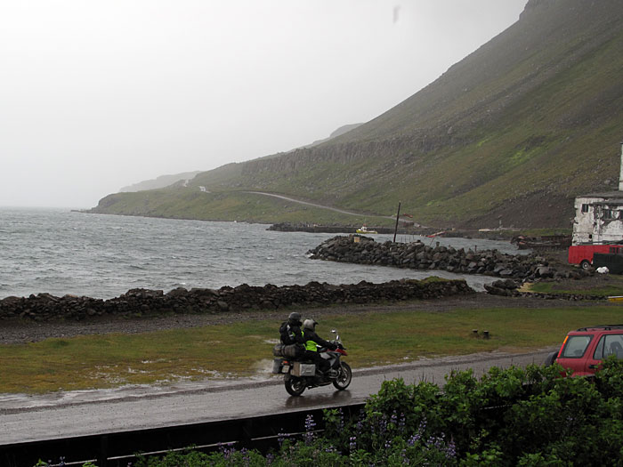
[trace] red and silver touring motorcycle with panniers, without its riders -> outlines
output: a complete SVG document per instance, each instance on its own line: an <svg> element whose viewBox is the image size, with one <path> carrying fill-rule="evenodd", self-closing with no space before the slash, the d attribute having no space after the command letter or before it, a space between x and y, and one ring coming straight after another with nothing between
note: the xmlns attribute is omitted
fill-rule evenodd
<svg viewBox="0 0 623 467"><path fill-rule="evenodd" d="M344 391L352 381L352 370L346 362L340 358L348 355L346 348L340 340L339 334L333 329L336 338L330 342L335 343L336 350L321 348L320 358L329 361L329 370L326 374L321 373L316 365L304 358L275 358L272 365L272 373L284 374L286 391L291 396L300 396L307 388L318 388L333 383L337 391Z"/></svg>

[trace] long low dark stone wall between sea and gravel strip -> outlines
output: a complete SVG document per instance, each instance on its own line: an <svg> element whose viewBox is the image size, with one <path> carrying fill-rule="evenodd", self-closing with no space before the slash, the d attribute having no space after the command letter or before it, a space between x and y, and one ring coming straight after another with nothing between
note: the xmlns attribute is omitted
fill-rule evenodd
<svg viewBox="0 0 623 467"><path fill-rule="evenodd" d="M463 280L402 279L372 284L333 286L310 282L306 286L247 286L176 288L162 290L132 289L109 300L76 295L56 297L32 294L0 300L0 319L22 318L35 321L81 320L105 316L144 317L171 313L223 313L230 310L275 310L287 306L326 306L340 303L395 302L473 294Z"/></svg>

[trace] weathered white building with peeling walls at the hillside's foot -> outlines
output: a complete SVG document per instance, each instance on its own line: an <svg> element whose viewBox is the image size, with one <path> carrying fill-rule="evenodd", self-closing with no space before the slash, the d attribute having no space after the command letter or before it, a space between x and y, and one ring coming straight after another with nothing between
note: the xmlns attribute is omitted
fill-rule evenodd
<svg viewBox="0 0 623 467"><path fill-rule="evenodd" d="M572 245L623 241L623 143L619 190L576 197Z"/></svg>

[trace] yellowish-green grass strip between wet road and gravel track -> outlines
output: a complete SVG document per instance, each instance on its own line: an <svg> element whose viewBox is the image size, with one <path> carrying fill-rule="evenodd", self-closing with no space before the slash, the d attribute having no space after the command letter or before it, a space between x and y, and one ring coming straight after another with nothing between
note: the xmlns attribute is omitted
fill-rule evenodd
<svg viewBox="0 0 623 467"><path fill-rule="evenodd" d="M543 310L356 313L322 318L320 335L340 330L353 367L560 344L572 328L619 322L617 306ZM0 392L43 393L249 376L268 371L279 322L104 334L0 346ZM490 331L489 340L472 330Z"/></svg>

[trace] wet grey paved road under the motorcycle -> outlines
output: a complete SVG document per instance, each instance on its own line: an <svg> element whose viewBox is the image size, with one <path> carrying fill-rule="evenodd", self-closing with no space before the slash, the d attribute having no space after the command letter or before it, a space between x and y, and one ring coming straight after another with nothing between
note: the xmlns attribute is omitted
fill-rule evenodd
<svg viewBox="0 0 623 467"><path fill-rule="evenodd" d="M45 396L0 395L0 445L41 439L205 423L241 416L269 415L305 407L332 407L364 402L382 382L444 382L453 369L473 368L480 375L490 366L542 364L551 350L526 354L488 353L419 360L403 366L353 370L346 391L325 386L300 398L287 395L280 376L236 382L192 382L166 388L76 391Z"/></svg>

